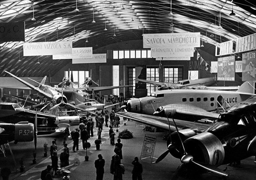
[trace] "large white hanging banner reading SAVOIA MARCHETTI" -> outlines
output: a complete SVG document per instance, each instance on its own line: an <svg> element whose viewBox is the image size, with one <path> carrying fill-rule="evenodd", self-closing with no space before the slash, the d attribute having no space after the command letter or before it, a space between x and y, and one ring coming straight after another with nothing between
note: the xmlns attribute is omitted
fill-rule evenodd
<svg viewBox="0 0 256 180"><path fill-rule="evenodd" d="M143 34L143 48L157 47L200 47L200 32Z"/></svg>

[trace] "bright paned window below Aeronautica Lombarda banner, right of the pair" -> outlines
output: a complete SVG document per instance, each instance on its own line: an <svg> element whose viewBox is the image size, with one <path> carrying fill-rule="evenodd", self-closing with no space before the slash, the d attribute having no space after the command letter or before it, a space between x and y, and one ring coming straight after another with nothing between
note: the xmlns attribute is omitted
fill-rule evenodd
<svg viewBox="0 0 256 180"><path fill-rule="evenodd" d="M165 67L164 81L170 83L177 83L183 79L183 67Z"/></svg>

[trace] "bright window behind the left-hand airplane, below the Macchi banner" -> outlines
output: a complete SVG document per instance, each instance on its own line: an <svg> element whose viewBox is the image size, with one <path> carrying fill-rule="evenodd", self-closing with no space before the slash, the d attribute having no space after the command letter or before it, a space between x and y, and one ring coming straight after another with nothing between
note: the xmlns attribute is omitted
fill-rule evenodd
<svg viewBox="0 0 256 180"><path fill-rule="evenodd" d="M64 77L71 78L71 73L73 76L73 87L80 87L86 78L89 77L89 71L70 71L70 77L68 77L68 71L64 72ZM70 79L71 80L71 79Z"/></svg>

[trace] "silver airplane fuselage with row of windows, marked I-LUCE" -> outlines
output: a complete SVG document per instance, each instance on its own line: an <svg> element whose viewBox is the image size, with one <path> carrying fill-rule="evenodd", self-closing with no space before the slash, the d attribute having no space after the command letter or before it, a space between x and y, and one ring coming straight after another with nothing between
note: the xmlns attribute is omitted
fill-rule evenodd
<svg viewBox="0 0 256 180"><path fill-rule="evenodd" d="M180 111L207 110L213 111L229 107L248 99L251 95L240 95L238 92L216 90L162 90L154 96L128 100L128 111L152 115L160 106Z"/></svg>

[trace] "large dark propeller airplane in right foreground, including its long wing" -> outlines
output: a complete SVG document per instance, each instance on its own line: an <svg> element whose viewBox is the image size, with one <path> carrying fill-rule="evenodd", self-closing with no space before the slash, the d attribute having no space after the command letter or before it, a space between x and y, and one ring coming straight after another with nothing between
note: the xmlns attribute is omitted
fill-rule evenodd
<svg viewBox="0 0 256 180"><path fill-rule="evenodd" d="M218 121L213 124L174 119L175 110L170 113L172 121L169 118L140 113L116 114L170 131L167 151L155 163L159 163L169 153L180 159L182 165L177 168L174 177L191 177L208 171L227 176L218 166L256 154L256 95L219 115Z"/></svg>

